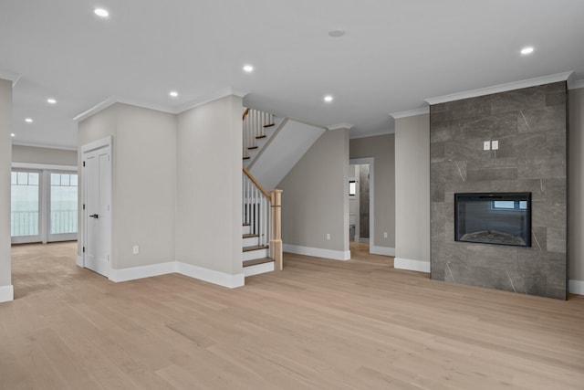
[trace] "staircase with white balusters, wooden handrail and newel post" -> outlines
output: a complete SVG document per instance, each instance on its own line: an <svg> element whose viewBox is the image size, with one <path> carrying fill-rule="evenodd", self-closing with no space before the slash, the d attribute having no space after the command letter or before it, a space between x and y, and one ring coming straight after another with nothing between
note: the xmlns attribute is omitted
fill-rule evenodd
<svg viewBox="0 0 584 390"><path fill-rule="evenodd" d="M263 111L243 114L245 277L282 269L281 190L274 188L327 129Z"/></svg>

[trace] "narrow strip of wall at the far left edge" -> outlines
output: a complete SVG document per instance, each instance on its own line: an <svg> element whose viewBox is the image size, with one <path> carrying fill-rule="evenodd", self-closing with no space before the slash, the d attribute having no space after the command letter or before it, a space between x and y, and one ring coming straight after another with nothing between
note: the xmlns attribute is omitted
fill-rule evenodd
<svg viewBox="0 0 584 390"><path fill-rule="evenodd" d="M12 81L0 79L0 290L12 285L10 259L10 171L12 169ZM11 288L10 288L11 289ZM0 293L1 295L1 293Z"/></svg>

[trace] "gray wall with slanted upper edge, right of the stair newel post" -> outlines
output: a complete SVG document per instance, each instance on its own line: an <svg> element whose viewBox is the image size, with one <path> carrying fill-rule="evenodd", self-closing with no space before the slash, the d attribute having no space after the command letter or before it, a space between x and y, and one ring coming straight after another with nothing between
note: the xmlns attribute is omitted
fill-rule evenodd
<svg viewBox="0 0 584 390"><path fill-rule="evenodd" d="M276 188L285 245L349 250L348 129L322 134Z"/></svg>

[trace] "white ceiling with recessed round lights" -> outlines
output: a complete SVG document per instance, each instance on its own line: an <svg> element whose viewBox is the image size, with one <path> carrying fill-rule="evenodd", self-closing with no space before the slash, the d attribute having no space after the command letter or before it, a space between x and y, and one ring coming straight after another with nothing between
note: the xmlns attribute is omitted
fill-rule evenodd
<svg viewBox="0 0 584 390"><path fill-rule="evenodd" d="M222 90L355 137L391 132L389 113L427 98L584 79L582 19L580 0L0 0L0 78L19 78L20 144L75 147L73 118L112 96L179 111Z"/></svg>

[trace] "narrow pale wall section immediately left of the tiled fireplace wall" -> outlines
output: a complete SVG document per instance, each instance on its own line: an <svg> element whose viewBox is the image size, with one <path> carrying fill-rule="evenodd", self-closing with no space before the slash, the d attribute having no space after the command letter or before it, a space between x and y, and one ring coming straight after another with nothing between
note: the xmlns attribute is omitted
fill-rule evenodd
<svg viewBox="0 0 584 390"><path fill-rule="evenodd" d="M430 115L395 121L395 268L430 272Z"/></svg>

